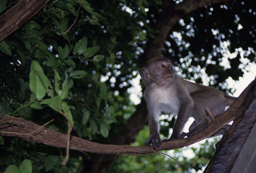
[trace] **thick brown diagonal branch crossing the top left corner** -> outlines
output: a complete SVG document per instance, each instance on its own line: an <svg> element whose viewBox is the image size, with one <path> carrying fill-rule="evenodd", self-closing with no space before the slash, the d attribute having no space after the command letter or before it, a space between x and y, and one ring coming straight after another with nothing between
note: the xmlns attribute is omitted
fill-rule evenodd
<svg viewBox="0 0 256 173"><path fill-rule="evenodd" d="M0 16L0 41L33 17L49 0L20 0Z"/></svg>

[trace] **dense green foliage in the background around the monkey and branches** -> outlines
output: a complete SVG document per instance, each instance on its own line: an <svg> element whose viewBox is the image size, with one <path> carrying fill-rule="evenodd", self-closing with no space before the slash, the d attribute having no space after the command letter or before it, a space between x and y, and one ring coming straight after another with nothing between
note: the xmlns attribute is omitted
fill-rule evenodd
<svg viewBox="0 0 256 173"><path fill-rule="evenodd" d="M0 14L15 3L3 0ZM228 76L237 80L255 57L252 3L235 0L185 15L172 28L163 55L172 59L185 78L202 82L207 74L210 85L227 89ZM81 0L80 8L80 0L49 0L0 42L0 113L40 124L54 118L47 127L67 132L61 111L74 123L72 135L111 143L135 111L128 89L143 65L140 57L146 43L157 34L153 28L162 5L161 0ZM226 59L228 67L223 64ZM247 61L242 64L243 59ZM174 118L162 122L161 133L166 137ZM143 146L147 136L142 130L136 143ZM0 144L0 172L22 171L24 164L29 165L27 169L32 164L32 172L81 172L86 161L83 153L71 151L63 167L60 152L65 155L65 150L2 136ZM203 146L209 148L192 148L197 153L193 159L178 160L183 170L198 171L206 165L213 154L213 142ZM162 156L121 156L111 172L180 169L175 161Z"/></svg>

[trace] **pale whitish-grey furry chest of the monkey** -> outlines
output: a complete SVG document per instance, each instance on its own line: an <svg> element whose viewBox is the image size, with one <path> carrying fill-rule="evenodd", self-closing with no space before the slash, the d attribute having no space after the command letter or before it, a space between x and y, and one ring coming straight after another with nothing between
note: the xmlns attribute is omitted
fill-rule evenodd
<svg viewBox="0 0 256 173"><path fill-rule="evenodd" d="M159 89L155 90L151 97L155 98L154 101L156 110L164 113L178 113L180 102L175 92Z"/></svg>

